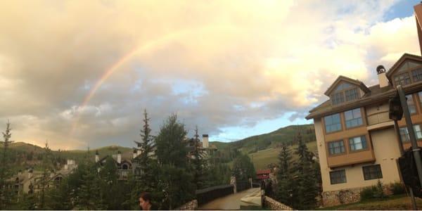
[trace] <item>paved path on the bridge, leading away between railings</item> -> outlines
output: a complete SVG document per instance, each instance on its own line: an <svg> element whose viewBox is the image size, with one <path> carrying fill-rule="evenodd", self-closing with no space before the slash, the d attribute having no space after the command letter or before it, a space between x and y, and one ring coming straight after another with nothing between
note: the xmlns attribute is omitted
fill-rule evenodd
<svg viewBox="0 0 422 211"><path fill-rule="evenodd" d="M222 198L217 198L216 200L212 200L205 205L199 206L198 210L240 210L241 198L257 190L260 190L260 188L250 188L246 191L230 194L229 196Z"/></svg>

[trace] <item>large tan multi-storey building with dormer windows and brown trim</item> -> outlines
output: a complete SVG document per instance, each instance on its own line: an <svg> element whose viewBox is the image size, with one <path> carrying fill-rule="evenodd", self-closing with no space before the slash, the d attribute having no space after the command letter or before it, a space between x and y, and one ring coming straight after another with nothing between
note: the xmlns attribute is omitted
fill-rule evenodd
<svg viewBox="0 0 422 211"><path fill-rule="evenodd" d="M415 12L422 46L418 21L422 4L415 6ZM359 191L378 180L385 185L401 181L399 145L406 149L411 143L404 118L398 122L398 135L388 115L388 100L399 84L407 94L416 139L422 146L422 57L404 53L388 71L378 68L376 73L379 84L371 87L338 77L324 93L328 101L306 117L314 120L324 206L357 201Z"/></svg>

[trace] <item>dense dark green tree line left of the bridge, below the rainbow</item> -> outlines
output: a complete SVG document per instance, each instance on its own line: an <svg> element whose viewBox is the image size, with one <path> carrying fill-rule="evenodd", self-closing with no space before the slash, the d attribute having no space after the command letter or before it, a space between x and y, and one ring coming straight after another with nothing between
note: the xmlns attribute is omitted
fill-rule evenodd
<svg viewBox="0 0 422 211"><path fill-rule="evenodd" d="M195 198L201 188L229 184L232 175L254 177L252 162L238 151L230 153L234 168L219 157L222 153L208 153L200 147L198 128L191 139L186 139L187 130L177 120L177 115L163 122L157 136L151 134L150 118L143 113L143 127L138 143L139 156L132 160L134 172L127 180L120 180L113 158L99 165L89 152L71 174L49 188L49 175L56 170L54 156L45 146L42 155L41 177L35 191L30 186L28 193L16 194L10 171L8 153L11 142L10 123L4 132L0 167L0 210L139 210L139 196L149 192L152 203L160 210L174 210ZM247 155L244 155L247 156ZM217 161L217 162L216 162ZM251 167L252 166L252 167Z"/></svg>

